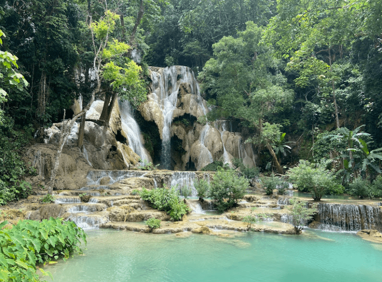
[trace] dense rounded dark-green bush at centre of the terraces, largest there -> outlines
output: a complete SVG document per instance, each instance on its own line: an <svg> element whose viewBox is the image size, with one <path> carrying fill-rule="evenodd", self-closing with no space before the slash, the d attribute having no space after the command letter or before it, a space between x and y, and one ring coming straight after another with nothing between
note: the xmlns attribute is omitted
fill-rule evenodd
<svg viewBox="0 0 382 282"><path fill-rule="evenodd" d="M238 177L234 170L218 170L210 184L209 196L215 202L219 212L229 210L237 205L248 188L248 180Z"/></svg>

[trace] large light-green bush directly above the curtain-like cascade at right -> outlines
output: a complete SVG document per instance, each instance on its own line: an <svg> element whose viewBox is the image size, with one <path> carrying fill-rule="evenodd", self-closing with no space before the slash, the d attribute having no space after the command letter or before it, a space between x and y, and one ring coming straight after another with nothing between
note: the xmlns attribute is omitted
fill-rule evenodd
<svg viewBox="0 0 382 282"><path fill-rule="evenodd" d="M326 163L310 164L300 160L298 166L289 169L289 180L297 185L301 192L310 192L314 201L328 191L338 191L338 183L332 171L325 169Z"/></svg>

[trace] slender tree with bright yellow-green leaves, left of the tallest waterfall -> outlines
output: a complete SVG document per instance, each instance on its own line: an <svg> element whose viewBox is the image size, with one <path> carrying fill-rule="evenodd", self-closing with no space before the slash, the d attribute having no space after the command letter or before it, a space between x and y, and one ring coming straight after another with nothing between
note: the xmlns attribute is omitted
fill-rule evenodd
<svg viewBox="0 0 382 282"><path fill-rule="evenodd" d="M129 100L133 106L139 105L146 99L146 89L140 79L142 68L126 57L130 46L112 38L119 15L106 10L98 21L90 20L90 30L93 42L93 71L96 85L92 91L92 98L101 91L102 79L108 81L112 88L107 89L99 122L108 127L112 109L118 94L122 99ZM81 121L79 131L79 147L82 147L85 129L85 119Z"/></svg>

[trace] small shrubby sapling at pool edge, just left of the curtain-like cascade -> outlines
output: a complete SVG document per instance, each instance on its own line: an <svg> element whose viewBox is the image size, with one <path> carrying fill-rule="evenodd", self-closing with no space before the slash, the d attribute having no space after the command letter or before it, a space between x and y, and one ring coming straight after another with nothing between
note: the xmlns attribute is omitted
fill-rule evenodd
<svg viewBox="0 0 382 282"><path fill-rule="evenodd" d="M310 203L310 208L306 207L306 202L299 201L296 198L289 199L291 207L288 207L292 215L292 225L296 234L300 234L304 229L308 220L312 219L312 215L317 213L317 203Z"/></svg>

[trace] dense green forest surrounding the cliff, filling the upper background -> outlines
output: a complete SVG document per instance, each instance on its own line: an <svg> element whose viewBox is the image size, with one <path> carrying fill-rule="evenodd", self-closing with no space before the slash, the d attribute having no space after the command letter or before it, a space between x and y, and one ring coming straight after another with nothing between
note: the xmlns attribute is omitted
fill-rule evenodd
<svg viewBox="0 0 382 282"><path fill-rule="evenodd" d="M27 193L22 148L80 94L138 106L148 66L172 65L197 75L206 120L246 129L262 170L307 160L291 177L381 197L381 31L378 0L0 0L0 198Z"/></svg>

